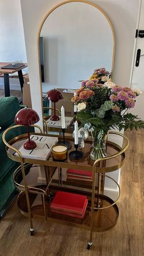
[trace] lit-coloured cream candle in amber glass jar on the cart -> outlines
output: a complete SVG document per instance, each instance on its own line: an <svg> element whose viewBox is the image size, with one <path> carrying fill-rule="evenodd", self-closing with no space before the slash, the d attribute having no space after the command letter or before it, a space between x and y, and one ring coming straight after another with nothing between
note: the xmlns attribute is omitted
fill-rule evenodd
<svg viewBox="0 0 144 256"><path fill-rule="evenodd" d="M59 144L52 147L52 156L56 161L64 161L67 159L68 148L66 145Z"/></svg>

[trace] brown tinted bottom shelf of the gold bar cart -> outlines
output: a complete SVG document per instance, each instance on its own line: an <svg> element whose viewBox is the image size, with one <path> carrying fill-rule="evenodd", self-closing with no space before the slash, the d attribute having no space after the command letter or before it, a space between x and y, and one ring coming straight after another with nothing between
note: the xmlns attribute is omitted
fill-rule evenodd
<svg viewBox="0 0 144 256"><path fill-rule="evenodd" d="M50 188L52 194L55 192L52 188ZM81 193L82 194L82 193ZM86 193L84 193L86 195ZM31 203L31 214L32 218L41 217L45 219L45 213L43 210L43 205L40 204L40 198L37 199L37 195L34 193L29 193L29 201ZM87 197L90 197L87 194ZM95 194L95 204L97 200L101 201L101 205L103 207L107 207L112 205L113 200L107 196L101 194ZM88 207L85 213L85 218L81 221L79 219L66 216L63 214L52 213L49 209L51 200L48 198L45 199L46 209L48 209L47 213L47 220L49 222L57 222L59 221L60 224L67 224L73 225L74 227L79 227L82 229L90 230L90 213L91 213L91 200L88 200ZM27 209L27 201L26 201L26 194L24 191L21 191L18 199L17 199L18 208L20 209L21 213L24 216L29 217L28 209ZM103 232L106 230L112 229L117 224L118 221L118 207L117 204L113 205L113 207L107 208L106 210L95 210L93 214L93 231L95 232Z"/></svg>

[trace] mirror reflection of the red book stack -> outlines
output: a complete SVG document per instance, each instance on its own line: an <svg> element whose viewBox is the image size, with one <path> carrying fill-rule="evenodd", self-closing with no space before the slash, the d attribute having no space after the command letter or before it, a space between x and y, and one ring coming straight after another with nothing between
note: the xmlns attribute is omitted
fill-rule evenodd
<svg viewBox="0 0 144 256"><path fill-rule="evenodd" d="M82 180L92 182L93 172L88 170L67 169L67 181Z"/></svg>

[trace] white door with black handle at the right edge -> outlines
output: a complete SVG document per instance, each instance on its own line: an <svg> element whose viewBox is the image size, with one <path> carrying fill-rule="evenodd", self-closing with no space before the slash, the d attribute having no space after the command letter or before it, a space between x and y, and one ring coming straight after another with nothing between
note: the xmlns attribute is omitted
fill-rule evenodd
<svg viewBox="0 0 144 256"><path fill-rule="evenodd" d="M135 108L131 109L132 114L139 115L144 120L144 0L139 1L139 12L137 17L137 38L135 38L134 56L132 60L132 71L130 85L131 88L139 88L143 91L136 98ZM139 36L140 31L143 31L143 38ZM139 66L136 67L137 50L140 49Z"/></svg>

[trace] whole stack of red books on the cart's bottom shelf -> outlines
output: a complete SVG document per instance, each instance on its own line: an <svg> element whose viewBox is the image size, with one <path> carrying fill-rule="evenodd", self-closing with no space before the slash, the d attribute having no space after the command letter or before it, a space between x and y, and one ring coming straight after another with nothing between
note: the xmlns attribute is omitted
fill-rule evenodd
<svg viewBox="0 0 144 256"><path fill-rule="evenodd" d="M83 219L87 209L87 197L70 192L57 191L51 203L51 211Z"/></svg>

